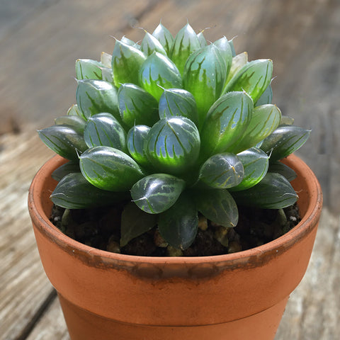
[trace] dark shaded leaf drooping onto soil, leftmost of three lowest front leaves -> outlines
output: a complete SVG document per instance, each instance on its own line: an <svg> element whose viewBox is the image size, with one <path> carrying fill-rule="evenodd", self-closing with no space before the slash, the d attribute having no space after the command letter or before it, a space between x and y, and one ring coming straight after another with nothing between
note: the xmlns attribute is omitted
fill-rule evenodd
<svg viewBox="0 0 340 340"><path fill-rule="evenodd" d="M122 212L120 222L120 246L126 246L132 239L148 232L157 225L157 216L140 210L135 203L128 203Z"/></svg>

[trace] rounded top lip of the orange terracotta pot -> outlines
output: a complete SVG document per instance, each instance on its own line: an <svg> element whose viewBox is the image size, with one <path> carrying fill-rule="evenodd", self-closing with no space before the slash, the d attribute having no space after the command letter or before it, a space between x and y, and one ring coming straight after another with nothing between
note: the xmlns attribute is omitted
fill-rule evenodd
<svg viewBox="0 0 340 340"><path fill-rule="evenodd" d="M251 261L254 256L265 256L266 254L277 253L278 249L289 249L300 239L305 237L305 234L310 232L317 225L319 215L322 210L322 190L312 170L303 162L299 157L290 155L284 160L284 163L290 164L295 168L297 175L303 174L305 177L305 184L307 191L310 194L310 202L307 205L305 215L302 217L301 222L284 234L278 239L274 239L271 242L257 246L256 248L239 251L233 254L224 254L216 256L195 256L195 257L156 257L156 256L134 256L125 254L116 254L109 251L103 251L100 249L87 246L74 239L67 237L67 235L60 232L55 225L50 222L49 218L45 215L42 208L41 200L44 199L40 193L45 183L46 176L50 176L52 171L65 162L60 156L52 157L47 161L35 175L28 193L28 208L32 220L35 225L40 229L40 232L45 234L50 239L53 239L55 243L61 247L71 247L74 252L81 254L82 256L93 258L94 256L100 256L106 263L119 262L119 263L153 263L157 264L172 264L172 265L197 265L199 263L227 263L246 265ZM298 164L298 165L297 165Z"/></svg>

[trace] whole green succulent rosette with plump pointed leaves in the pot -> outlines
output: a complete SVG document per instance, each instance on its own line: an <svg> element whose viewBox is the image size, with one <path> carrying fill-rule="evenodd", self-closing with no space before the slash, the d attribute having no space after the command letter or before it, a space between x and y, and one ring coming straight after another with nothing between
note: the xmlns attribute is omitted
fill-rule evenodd
<svg viewBox="0 0 340 340"><path fill-rule="evenodd" d="M293 205L295 173L278 162L309 130L272 104L271 60L235 55L232 40L209 43L186 24L162 24L140 45L116 40L113 55L77 60L77 104L39 131L69 159L51 195L68 209L126 202L120 244L158 227L186 249L199 216L237 225L237 205ZM128 222L127 222L128 221Z"/></svg>

